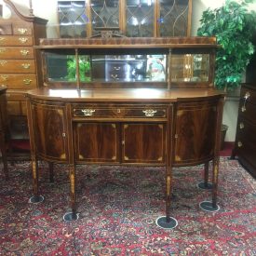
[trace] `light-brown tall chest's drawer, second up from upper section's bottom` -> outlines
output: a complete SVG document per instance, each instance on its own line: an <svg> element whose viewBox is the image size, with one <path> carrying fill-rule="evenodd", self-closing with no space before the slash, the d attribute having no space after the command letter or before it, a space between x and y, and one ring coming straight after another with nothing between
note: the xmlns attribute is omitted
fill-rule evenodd
<svg viewBox="0 0 256 256"><path fill-rule="evenodd" d="M0 60L1 73L35 73L34 60Z"/></svg>

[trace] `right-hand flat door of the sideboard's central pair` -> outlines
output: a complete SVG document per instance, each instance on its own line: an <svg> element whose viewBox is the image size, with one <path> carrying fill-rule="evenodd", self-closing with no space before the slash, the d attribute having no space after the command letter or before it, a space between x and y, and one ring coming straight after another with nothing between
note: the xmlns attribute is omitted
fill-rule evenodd
<svg viewBox="0 0 256 256"><path fill-rule="evenodd" d="M166 126L159 123L124 124L122 145L122 161L125 163L164 164Z"/></svg>

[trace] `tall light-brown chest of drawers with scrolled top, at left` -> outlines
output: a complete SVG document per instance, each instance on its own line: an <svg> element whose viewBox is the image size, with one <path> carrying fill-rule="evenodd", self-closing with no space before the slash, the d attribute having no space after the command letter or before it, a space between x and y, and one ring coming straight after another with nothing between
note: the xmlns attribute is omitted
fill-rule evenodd
<svg viewBox="0 0 256 256"><path fill-rule="evenodd" d="M24 16L10 2L8 19L0 18L0 86L7 88L10 138L28 139L24 93L41 84L39 55L34 46L46 37L47 20Z"/></svg>

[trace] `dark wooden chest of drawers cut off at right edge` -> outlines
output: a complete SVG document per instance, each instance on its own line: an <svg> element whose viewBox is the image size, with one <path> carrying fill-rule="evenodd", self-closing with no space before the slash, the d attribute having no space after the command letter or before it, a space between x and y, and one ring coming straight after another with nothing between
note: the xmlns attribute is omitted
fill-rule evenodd
<svg viewBox="0 0 256 256"><path fill-rule="evenodd" d="M233 155L256 177L256 87L243 84L238 110L236 145Z"/></svg>

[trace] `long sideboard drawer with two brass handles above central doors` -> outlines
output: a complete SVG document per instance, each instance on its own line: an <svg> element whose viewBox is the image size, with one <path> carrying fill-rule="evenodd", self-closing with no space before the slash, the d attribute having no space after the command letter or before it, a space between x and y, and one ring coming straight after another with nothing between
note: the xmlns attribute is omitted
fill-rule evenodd
<svg viewBox="0 0 256 256"><path fill-rule="evenodd" d="M97 118L167 118L167 106L98 106L98 105L75 105L75 117Z"/></svg>

